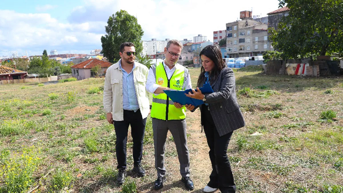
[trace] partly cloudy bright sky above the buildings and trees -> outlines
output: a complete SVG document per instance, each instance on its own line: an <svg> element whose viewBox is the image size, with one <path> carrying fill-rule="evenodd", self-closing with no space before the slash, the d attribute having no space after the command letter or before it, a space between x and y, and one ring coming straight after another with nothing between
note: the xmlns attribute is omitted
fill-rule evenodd
<svg viewBox="0 0 343 193"><path fill-rule="evenodd" d="M240 11L263 17L278 7L279 0L0 0L0 57L44 49L89 54L101 49L108 18L121 9L137 16L144 41L202 34L213 42L213 31L225 30Z"/></svg>

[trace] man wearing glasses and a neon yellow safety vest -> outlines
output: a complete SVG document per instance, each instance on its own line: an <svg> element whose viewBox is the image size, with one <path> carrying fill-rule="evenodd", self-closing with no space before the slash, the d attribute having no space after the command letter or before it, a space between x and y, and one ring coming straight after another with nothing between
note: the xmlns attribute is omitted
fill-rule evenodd
<svg viewBox="0 0 343 193"><path fill-rule="evenodd" d="M163 90L186 90L192 88L188 69L177 64L181 55L182 44L170 40L164 48L166 58L163 62L152 65L146 81L146 90L153 94L151 117L154 132L155 167L157 180L155 190L163 187L166 177L164 149L168 130L173 135L180 162L181 181L188 190L194 185L189 173L189 152L186 136L186 107L174 103Z"/></svg>

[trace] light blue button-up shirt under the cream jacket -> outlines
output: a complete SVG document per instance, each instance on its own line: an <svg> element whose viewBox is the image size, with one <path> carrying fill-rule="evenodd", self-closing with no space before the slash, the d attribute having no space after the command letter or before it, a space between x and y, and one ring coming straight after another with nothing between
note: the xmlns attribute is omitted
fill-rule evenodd
<svg viewBox="0 0 343 193"><path fill-rule="evenodd" d="M121 67L121 60L119 66L123 72L123 109L136 112L139 109L136 90L134 89L133 70L136 67L133 63L133 68L130 73L127 73Z"/></svg>

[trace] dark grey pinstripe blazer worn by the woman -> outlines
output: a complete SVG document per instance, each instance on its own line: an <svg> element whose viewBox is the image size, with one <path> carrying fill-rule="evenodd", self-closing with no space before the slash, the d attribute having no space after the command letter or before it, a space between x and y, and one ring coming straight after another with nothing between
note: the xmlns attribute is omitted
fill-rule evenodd
<svg viewBox="0 0 343 193"><path fill-rule="evenodd" d="M217 79L211 83L211 87L214 92L205 94L206 103L209 104L219 136L244 127L245 121L237 102L234 71L231 68L222 69ZM200 111L201 109L200 106ZM202 117L201 125L204 121L206 120Z"/></svg>

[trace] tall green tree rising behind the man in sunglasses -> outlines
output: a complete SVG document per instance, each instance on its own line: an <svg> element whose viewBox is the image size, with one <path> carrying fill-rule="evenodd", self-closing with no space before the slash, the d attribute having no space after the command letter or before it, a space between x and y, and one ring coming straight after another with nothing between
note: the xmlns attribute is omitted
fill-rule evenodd
<svg viewBox="0 0 343 193"><path fill-rule="evenodd" d="M108 18L105 26L106 34L101 37L102 51L109 62L115 63L120 59L119 47L123 42L132 42L137 53L143 50L142 36L144 34L137 19L125 10L120 10Z"/></svg>

